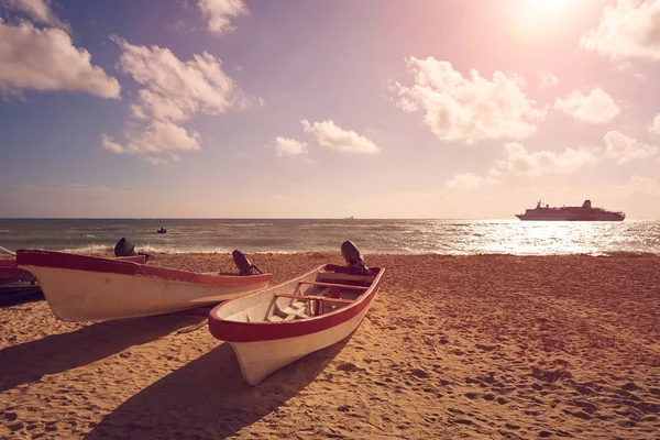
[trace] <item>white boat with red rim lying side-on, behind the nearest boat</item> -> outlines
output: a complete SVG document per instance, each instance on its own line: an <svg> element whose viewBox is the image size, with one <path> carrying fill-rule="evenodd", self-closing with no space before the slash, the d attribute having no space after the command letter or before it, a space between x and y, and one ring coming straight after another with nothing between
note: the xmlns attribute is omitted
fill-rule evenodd
<svg viewBox="0 0 660 440"><path fill-rule="evenodd" d="M144 262L143 255L134 256L140 257ZM64 321L136 318L208 306L262 289L271 280L271 274L204 274L35 250L16 251L16 264L36 276L51 309Z"/></svg>

